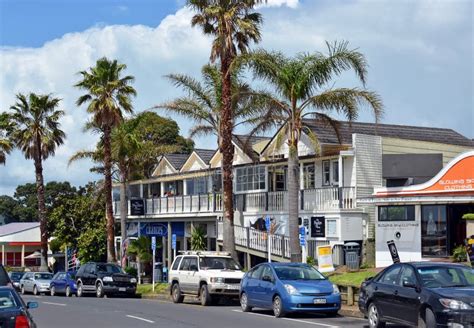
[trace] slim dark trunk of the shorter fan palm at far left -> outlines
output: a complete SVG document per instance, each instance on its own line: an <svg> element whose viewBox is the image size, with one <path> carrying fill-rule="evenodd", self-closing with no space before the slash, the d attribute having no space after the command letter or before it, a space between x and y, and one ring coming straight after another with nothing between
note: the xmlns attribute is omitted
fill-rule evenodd
<svg viewBox="0 0 474 328"><path fill-rule="evenodd" d="M40 143L41 144L41 143ZM41 147L38 147L39 149ZM48 271L48 228L44 200L43 163L41 155L35 158L36 197L38 198L38 219L41 233L41 271Z"/></svg>

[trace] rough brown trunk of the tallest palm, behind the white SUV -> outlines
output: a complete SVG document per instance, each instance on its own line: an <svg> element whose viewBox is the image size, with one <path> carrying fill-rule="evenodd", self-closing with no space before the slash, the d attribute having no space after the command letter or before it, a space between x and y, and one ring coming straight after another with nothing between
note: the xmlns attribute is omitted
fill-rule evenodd
<svg viewBox="0 0 474 328"><path fill-rule="evenodd" d="M234 159L234 146L232 144L232 81L230 74L228 74L231 60L232 59L229 55L221 57L221 75L223 83L219 147L222 154L222 184L224 201L223 245L224 251L230 252L232 257L237 259L234 238L234 194L232 183L232 162Z"/></svg>

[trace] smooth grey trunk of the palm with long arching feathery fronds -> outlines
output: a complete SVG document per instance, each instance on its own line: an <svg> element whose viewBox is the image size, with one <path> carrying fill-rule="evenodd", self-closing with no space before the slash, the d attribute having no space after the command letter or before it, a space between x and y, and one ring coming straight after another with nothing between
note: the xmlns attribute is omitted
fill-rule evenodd
<svg viewBox="0 0 474 328"><path fill-rule="evenodd" d="M301 246L299 243L299 163L298 141L290 143L288 155L288 220L290 230L290 261L301 262Z"/></svg>

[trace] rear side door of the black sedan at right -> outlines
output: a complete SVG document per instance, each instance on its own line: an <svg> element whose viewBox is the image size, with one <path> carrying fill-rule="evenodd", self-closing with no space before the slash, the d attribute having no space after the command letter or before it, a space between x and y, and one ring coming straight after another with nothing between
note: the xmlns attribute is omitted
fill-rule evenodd
<svg viewBox="0 0 474 328"><path fill-rule="evenodd" d="M394 318L397 316L393 303L401 268L399 264L389 267L374 284L373 300L377 305L379 313L384 318Z"/></svg>

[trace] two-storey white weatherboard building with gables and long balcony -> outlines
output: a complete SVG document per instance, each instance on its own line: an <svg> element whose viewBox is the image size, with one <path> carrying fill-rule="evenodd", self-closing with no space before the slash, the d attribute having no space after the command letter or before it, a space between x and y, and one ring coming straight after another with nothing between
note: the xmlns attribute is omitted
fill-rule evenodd
<svg viewBox="0 0 474 328"><path fill-rule="evenodd" d="M316 155L302 135L300 224L308 227L308 255L315 257L316 246L329 244L336 264L342 264L341 246L349 241L364 245L364 258L374 257L376 204L361 199L371 197L375 188L426 182L460 153L474 149L472 140L450 129L340 122L339 142L323 122L307 123L318 135L321 151ZM277 147L275 139L236 135L232 140L235 237L247 265L266 257L266 216L276 229L272 257L289 259L288 147ZM222 241L220 165L216 150L160 158L150 179L129 185L129 236L161 237L164 247L157 260L168 266L172 234L177 235L178 250L188 250L195 226L207 232L208 249L217 249ZM119 186L114 190L119 220Z"/></svg>

